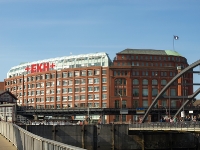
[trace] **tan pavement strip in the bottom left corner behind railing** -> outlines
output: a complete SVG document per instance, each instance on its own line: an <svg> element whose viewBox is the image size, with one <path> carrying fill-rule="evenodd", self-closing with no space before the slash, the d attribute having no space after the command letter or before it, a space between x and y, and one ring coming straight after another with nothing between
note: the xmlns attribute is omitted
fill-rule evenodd
<svg viewBox="0 0 200 150"><path fill-rule="evenodd" d="M0 134L0 150L17 150L17 148Z"/></svg>

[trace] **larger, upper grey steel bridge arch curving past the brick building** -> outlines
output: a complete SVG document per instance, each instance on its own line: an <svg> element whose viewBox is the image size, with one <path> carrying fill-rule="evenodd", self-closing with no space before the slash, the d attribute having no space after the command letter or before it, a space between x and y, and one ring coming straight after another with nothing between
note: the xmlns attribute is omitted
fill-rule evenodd
<svg viewBox="0 0 200 150"><path fill-rule="evenodd" d="M195 68L198 65L200 65L200 60L197 60L196 62L192 63L191 65L189 65L188 67L186 67L185 69L183 69L174 78L172 78L172 80L169 83L167 83L165 85L165 87L160 91L160 93L156 96L156 98L153 100L153 102L151 103L151 105L147 109L146 113L144 114L144 116L142 118L142 121L141 121L142 123L144 123L145 119L149 115L149 112L152 110L153 106L156 104L156 102L158 101L158 99L173 84L173 82L176 81L178 78L180 78L183 74L187 73L188 71L190 71L191 69Z"/></svg>

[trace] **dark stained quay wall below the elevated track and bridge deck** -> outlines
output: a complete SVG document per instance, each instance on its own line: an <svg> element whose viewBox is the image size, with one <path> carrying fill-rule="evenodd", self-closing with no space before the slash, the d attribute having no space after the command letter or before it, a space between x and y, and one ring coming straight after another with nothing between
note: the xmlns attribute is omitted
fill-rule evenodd
<svg viewBox="0 0 200 150"><path fill-rule="evenodd" d="M27 125L28 131L58 142L87 150L196 149L192 133L132 132L128 125ZM132 134L132 135L129 135ZM196 147L195 147L196 145Z"/></svg>

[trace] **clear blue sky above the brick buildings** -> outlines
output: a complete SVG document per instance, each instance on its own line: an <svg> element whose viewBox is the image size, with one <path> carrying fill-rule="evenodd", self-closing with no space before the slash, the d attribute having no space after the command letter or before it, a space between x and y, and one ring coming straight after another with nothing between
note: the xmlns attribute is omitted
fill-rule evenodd
<svg viewBox="0 0 200 150"><path fill-rule="evenodd" d="M0 0L0 81L21 62L70 53L172 50L173 35L191 64L200 58L199 14L199 0Z"/></svg>

